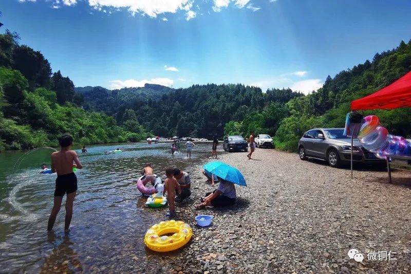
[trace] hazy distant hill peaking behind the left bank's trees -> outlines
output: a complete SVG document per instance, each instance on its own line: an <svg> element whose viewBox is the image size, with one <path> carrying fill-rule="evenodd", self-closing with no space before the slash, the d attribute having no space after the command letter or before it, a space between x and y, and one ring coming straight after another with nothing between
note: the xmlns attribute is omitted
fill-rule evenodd
<svg viewBox="0 0 411 274"><path fill-rule="evenodd" d="M74 90L82 94L84 100L96 111L109 115L117 113L118 109L130 102L147 102L159 100L161 96L174 92L174 88L156 84L145 84L144 87L124 87L110 90L101 86L76 87Z"/></svg>

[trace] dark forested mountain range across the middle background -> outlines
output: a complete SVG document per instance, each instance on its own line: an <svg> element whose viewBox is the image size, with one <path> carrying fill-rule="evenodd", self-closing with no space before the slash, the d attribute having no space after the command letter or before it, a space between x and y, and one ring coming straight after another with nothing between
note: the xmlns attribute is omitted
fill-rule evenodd
<svg viewBox="0 0 411 274"><path fill-rule="evenodd" d="M136 117L140 124L156 135L208 138L214 134L223 135L224 125L232 119L242 120L247 113L262 110L267 105L271 109L267 115L271 115L278 104L303 96L291 89L270 89L262 93L258 87L241 84L193 85L166 90L161 96L150 89L137 96L136 93L130 95L132 90L110 91L96 87L83 95L93 108L115 115L119 125L124 125L129 117ZM116 94L117 99L110 97L112 94ZM266 125L270 132L275 132L276 126L271 118L267 118Z"/></svg>

